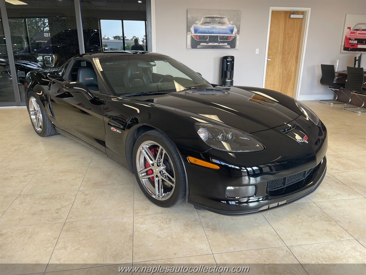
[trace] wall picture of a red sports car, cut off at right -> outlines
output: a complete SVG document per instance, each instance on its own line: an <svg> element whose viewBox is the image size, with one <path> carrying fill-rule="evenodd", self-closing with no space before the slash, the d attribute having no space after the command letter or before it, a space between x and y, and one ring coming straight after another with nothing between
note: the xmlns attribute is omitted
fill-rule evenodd
<svg viewBox="0 0 366 275"><path fill-rule="evenodd" d="M366 52L366 15L346 14L340 52Z"/></svg>

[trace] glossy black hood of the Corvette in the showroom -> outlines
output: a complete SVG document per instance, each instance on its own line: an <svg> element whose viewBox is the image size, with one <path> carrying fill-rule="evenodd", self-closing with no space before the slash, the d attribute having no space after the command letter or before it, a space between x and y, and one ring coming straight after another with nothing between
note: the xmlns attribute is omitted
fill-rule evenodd
<svg viewBox="0 0 366 275"><path fill-rule="evenodd" d="M279 100L236 87L190 89L141 99L197 114L200 122L217 121L247 133L285 125L299 116Z"/></svg>

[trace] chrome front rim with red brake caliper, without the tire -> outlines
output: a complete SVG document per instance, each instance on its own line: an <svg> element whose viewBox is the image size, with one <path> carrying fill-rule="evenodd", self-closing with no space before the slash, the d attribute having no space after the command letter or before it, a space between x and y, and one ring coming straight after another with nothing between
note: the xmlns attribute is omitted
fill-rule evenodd
<svg viewBox="0 0 366 275"><path fill-rule="evenodd" d="M175 172L167 151L158 143L143 142L136 156L138 177L145 190L155 199L164 201L175 188Z"/></svg>

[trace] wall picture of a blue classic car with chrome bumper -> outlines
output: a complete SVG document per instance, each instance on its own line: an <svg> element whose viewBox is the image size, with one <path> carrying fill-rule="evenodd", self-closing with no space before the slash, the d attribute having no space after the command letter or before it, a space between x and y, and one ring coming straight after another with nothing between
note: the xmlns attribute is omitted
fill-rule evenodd
<svg viewBox="0 0 366 275"><path fill-rule="evenodd" d="M188 10L188 49L238 49L241 11Z"/></svg>

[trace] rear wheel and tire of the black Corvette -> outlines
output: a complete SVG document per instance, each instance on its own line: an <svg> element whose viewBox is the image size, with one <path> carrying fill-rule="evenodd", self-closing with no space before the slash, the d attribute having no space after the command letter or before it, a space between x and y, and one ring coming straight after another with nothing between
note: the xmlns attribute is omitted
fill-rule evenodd
<svg viewBox="0 0 366 275"><path fill-rule="evenodd" d="M29 95L27 109L33 129L38 136L46 137L57 134L55 126L53 126L51 120L49 120L41 100L34 91Z"/></svg>

